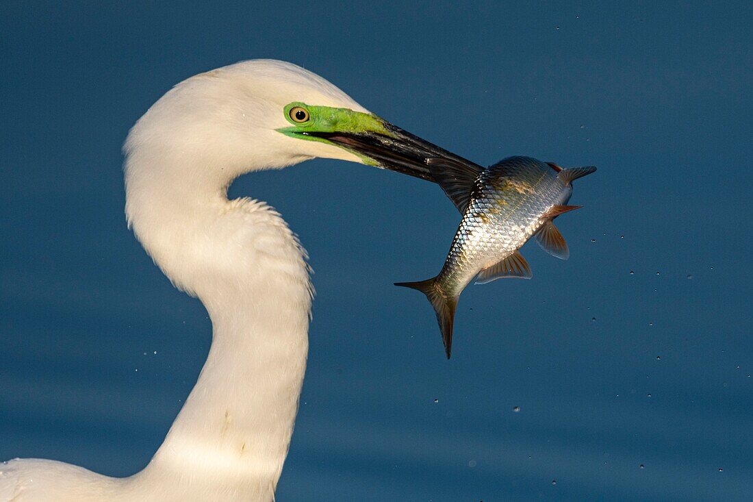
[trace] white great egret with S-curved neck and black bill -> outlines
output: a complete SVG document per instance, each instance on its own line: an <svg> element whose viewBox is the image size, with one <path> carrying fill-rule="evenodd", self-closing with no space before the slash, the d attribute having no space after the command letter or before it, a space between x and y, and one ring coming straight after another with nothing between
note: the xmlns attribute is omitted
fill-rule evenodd
<svg viewBox="0 0 753 502"><path fill-rule="evenodd" d="M160 98L123 147L126 215L179 289L212 319L199 379L151 462L110 478L57 461L0 466L0 502L274 499L306 368L306 253L272 208L227 199L236 177L322 157L431 179L455 155L367 112L305 69L252 60Z"/></svg>

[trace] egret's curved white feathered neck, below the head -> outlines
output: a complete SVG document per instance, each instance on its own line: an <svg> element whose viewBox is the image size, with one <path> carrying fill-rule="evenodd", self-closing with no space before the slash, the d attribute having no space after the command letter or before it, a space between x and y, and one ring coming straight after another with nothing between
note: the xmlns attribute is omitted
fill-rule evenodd
<svg viewBox="0 0 753 502"><path fill-rule="evenodd" d="M173 177L171 186L154 169L140 178L144 171L132 167L130 224L175 285L201 299L213 325L197 384L151 463L133 476L135 489L172 479L181 500L219 500L218 486L227 500L273 500L306 369L305 252L279 214L227 200L221 182L207 188L206 180L192 186Z"/></svg>

